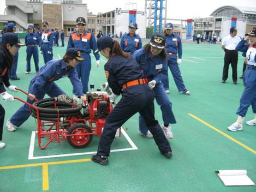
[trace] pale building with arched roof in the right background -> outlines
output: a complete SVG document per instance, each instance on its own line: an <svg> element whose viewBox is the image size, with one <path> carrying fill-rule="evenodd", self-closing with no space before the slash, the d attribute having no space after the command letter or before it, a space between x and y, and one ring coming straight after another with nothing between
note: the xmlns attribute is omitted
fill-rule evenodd
<svg viewBox="0 0 256 192"><path fill-rule="evenodd" d="M211 17L193 19L194 34L212 35L223 39L229 34L231 26L238 29L237 35L243 37L252 27L256 27L256 8L223 6L210 14Z"/></svg>

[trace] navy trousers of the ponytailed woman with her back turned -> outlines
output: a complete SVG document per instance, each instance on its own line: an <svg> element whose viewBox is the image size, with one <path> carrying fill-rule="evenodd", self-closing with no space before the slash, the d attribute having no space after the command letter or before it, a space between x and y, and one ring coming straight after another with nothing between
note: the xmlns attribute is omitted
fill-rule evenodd
<svg viewBox="0 0 256 192"><path fill-rule="evenodd" d="M115 139L116 130L137 112L144 118L159 150L163 153L171 151L170 144L164 136L163 130L160 128L158 121L154 118L153 101L153 91L146 84L124 89L122 99L106 118L97 154L109 156L110 146Z"/></svg>

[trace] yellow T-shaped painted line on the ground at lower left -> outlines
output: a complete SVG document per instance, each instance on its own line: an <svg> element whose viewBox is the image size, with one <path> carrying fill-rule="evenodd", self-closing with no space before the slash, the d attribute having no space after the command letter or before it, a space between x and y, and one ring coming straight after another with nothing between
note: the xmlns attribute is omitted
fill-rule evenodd
<svg viewBox="0 0 256 192"><path fill-rule="evenodd" d="M3 166L3 167L0 167L0 170L42 166L42 168L43 168L43 191L46 191L46 190L49 190L49 175L48 175L48 166L49 165L80 163L80 162L86 162L86 161L91 161L91 159L90 158L88 158L88 159L75 159L75 160L66 160L66 161L52 161L52 162L47 162L47 163L35 163L35 164L25 164L25 165Z"/></svg>

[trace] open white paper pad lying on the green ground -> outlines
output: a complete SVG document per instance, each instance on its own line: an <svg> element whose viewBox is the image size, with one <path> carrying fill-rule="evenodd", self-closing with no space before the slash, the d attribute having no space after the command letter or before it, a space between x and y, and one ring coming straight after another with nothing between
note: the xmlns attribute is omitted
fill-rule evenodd
<svg viewBox="0 0 256 192"><path fill-rule="evenodd" d="M246 170L219 170L218 176L225 186L255 185Z"/></svg>

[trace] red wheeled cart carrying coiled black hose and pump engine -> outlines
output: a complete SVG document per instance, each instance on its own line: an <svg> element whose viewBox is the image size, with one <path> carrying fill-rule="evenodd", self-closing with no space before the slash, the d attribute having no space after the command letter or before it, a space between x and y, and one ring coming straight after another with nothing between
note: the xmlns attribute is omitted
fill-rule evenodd
<svg viewBox="0 0 256 192"><path fill-rule="evenodd" d="M20 88L17 90L28 95ZM29 104L18 97L31 109L31 115L37 119L38 145L45 149L51 142L60 143L68 140L74 148L88 146L93 135L102 135L106 117L113 110L106 92L87 92L87 101L81 105L59 101L58 97L38 100ZM121 129L117 130L121 136ZM41 143L47 139L45 145Z"/></svg>

